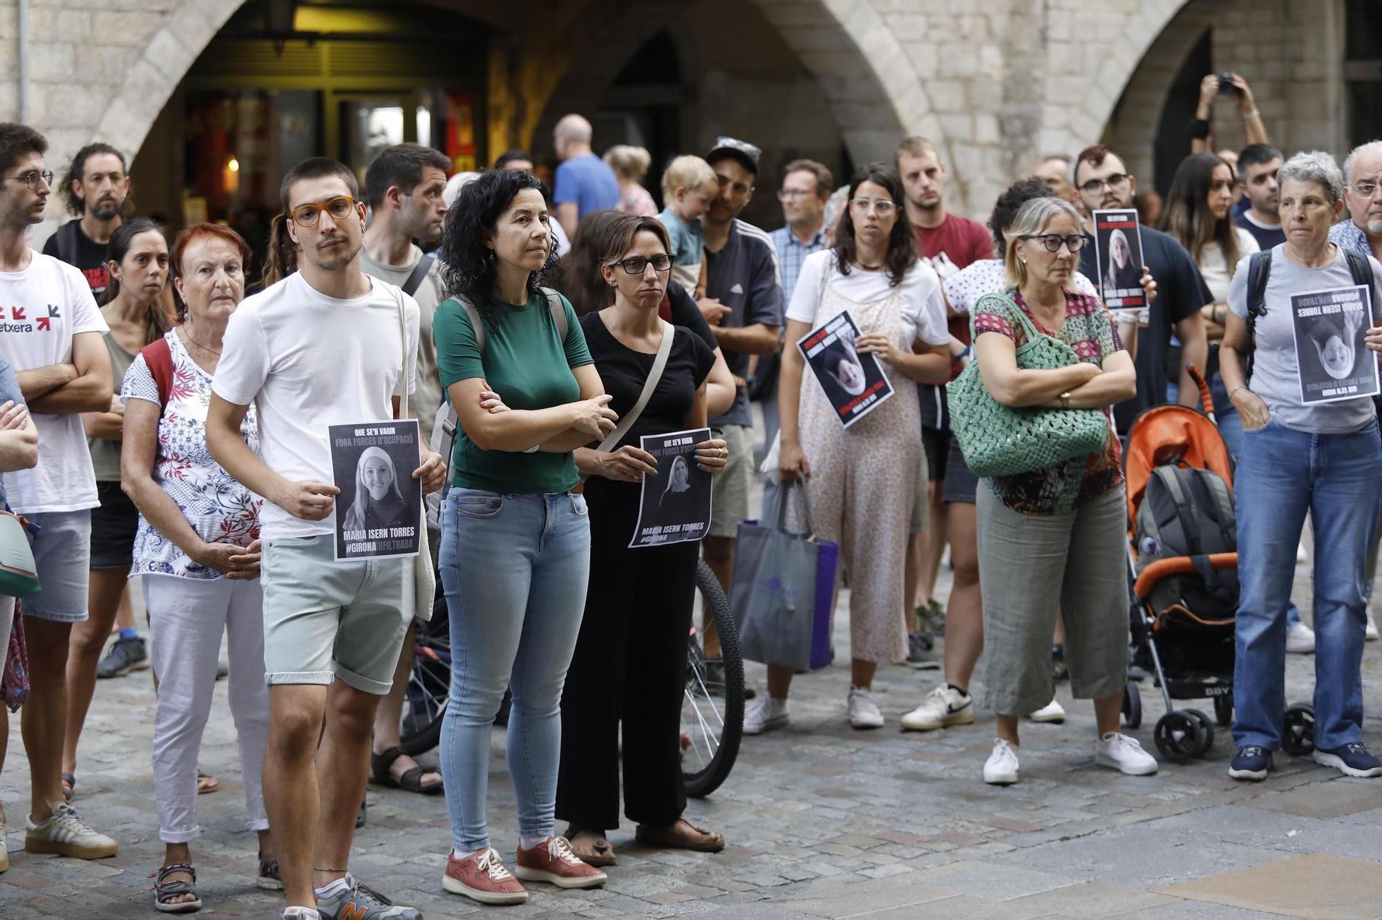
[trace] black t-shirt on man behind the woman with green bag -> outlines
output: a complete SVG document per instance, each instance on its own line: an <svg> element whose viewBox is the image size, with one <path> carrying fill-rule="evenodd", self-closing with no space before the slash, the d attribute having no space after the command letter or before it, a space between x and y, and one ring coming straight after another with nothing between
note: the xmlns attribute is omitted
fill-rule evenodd
<svg viewBox="0 0 1382 920"><path fill-rule="evenodd" d="M1166 349L1176 323L1213 301L1209 286L1184 246L1150 227L1140 231L1142 258L1157 280L1157 300L1150 309L1151 323L1137 330L1137 395L1114 406L1114 423L1119 432L1126 432L1143 409L1166 402ZM1090 280L1099 278L1095 240L1088 233L1085 247L1079 250L1079 271Z"/></svg>

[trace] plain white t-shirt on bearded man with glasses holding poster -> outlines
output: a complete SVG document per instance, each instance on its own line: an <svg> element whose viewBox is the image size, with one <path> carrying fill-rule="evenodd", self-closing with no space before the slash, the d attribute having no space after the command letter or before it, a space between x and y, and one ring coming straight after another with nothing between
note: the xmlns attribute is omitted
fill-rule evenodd
<svg viewBox="0 0 1382 920"><path fill-rule="evenodd" d="M256 403L264 463L290 482L332 481L329 425L392 419L392 396L404 392L399 297L409 370L416 363L417 303L377 278L370 285L365 297L337 300L293 274L231 314L211 391L238 406ZM408 392L415 388L409 374ZM332 518L303 521L271 501L260 522L264 539L333 528Z"/></svg>

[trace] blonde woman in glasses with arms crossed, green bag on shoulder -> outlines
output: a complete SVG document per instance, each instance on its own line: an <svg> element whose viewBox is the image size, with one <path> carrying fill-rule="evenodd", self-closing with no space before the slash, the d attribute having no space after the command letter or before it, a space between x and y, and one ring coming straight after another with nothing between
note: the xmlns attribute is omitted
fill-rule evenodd
<svg viewBox="0 0 1382 920"><path fill-rule="evenodd" d="M1071 691L1095 700L1096 763L1137 776L1157 772L1155 758L1118 731L1128 674L1128 511L1110 408L1136 394L1137 376L1107 308L1072 286L1085 242L1079 213L1068 202L1027 202L1007 233L1007 291L974 305L974 354L995 401L1048 412L1100 409L1110 420L1101 449L1042 470L984 478L978 489L985 656L980 699L998 716L984 782L994 785L1017 782L1017 718L1054 693L1050 635L1057 609ZM1079 359L1054 370L1019 366L1017 348L1036 336L1066 343Z"/></svg>

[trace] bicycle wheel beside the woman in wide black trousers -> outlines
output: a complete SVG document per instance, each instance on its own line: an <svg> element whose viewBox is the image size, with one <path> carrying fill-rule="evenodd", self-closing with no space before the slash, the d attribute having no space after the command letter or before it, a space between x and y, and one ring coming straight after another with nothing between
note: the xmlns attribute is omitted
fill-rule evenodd
<svg viewBox="0 0 1382 920"><path fill-rule="evenodd" d="M720 658L706 659L692 630L687 645L685 700L681 705L681 776L688 796L720 787L739 756L744 736L744 659L730 601L710 566L701 559L697 587L720 633Z"/></svg>

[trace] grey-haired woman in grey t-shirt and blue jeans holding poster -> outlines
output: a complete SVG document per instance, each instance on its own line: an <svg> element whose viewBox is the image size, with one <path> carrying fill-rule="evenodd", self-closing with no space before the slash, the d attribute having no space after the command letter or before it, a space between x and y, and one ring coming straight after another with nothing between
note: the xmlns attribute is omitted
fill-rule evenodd
<svg viewBox="0 0 1382 920"><path fill-rule="evenodd" d="M1237 753L1229 775L1266 779L1271 753L1281 747L1285 611L1309 512L1316 542L1313 756L1349 776L1382 776L1382 763L1363 745L1361 678L1364 566L1382 464L1368 398L1374 352L1382 351L1382 265L1329 242L1343 210L1343 173L1332 156L1296 153L1277 181L1287 239L1238 264L1220 351L1223 383L1242 417L1234 483ZM1253 283L1263 271L1266 283ZM1357 286L1367 290L1345 293Z"/></svg>

